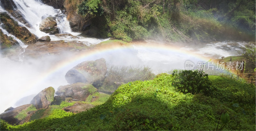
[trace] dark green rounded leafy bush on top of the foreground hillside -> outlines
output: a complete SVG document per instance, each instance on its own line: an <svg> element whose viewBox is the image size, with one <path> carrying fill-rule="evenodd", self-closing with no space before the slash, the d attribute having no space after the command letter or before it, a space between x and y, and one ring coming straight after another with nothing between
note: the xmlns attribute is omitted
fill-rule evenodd
<svg viewBox="0 0 256 131"><path fill-rule="evenodd" d="M208 74L198 70L182 70L178 73L173 71L175 79L173 80L176 86L183 93L204 93L209 95L213 91L212 82L208 79Z"/></svg>

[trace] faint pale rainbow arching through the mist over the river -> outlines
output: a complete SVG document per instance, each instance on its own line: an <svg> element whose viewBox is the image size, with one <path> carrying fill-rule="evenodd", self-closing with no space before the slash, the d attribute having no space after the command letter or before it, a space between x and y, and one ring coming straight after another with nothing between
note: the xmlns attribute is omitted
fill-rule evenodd
<svg viewBox="0 0 256 131"><path fill-rule="evenodd" d="M120 51L120 50L124 50L124 49L134 49L134 46L136 46L138 48L149 49L149 50L166 51L166 52L184 54L184 55L187 55L187 56L193 56L194 58L200 59L202 61L209 61L211 59L211 58L208 58L208 57L204 57L200 54L196 54L196 53L193 53L193 52L181 50L179 47L176 47L176 46L173 46L173 45L171 46L171 45L164 45L164 44L157 44L156 45L156 44L148 44L148 43L141 44L140 43L140 44L136 44L136 45L110 44L110 45L107 45L107 46L98 46L97 48L93 48L89 51L80 52L80 53L72 56L72 58L65 59L65 61L58 62L51 69L49 69L48 71L46 71L45 73L40 75L40 77L38 77L36 80L29 83L28 86L27 86L28 88L26 88L26 90L28 91L29 89L35 87L38 83L43 82L44 79L46 79L51 74L60 71L61 69L63 69L64 67L67 67L68 65L70 65L72 63L78 63L79 61L84 61L84 59L86 59L88 57L95 56L95 55L100 54L100 53L109 53L109 52L115 52L115 51ZM183 65L182 65L182 67L183 67Z"/></svg>

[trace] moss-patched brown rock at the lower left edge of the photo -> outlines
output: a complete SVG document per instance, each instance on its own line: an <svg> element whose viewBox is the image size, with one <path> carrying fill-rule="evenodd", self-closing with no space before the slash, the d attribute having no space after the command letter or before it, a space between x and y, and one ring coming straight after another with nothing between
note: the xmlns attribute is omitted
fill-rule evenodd
<svg viewBox="0 0 256 131"><path fill-rule="evenodd" d="M5 111L0 114L2 120L14 125L19 124L28 115L28 112L35 111L35 107L31 104L22 105L20 107L13 108L9 111Z"/></svg>

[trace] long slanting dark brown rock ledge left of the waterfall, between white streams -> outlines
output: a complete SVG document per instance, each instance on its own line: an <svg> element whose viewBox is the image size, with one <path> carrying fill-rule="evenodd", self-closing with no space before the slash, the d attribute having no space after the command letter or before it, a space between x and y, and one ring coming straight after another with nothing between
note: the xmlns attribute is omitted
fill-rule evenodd
<svg viewBox="0 0 256 131"><path fill-rule="evenodd" d="M16 21L14 21L7 13L1 12L0 17L1 23L4 24L4 29L10 34L19 38L25 44L36 43L36 35L32 34L24 26L19 26Z"/></svg>

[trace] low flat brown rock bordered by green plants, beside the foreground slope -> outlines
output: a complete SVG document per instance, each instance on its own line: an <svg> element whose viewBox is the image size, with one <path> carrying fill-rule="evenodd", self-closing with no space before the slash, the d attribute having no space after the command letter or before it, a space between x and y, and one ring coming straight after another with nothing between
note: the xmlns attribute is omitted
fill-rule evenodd
<svg viewBox="0 0 256 131"><path fill-rule="evenodd" d="M63 110L67 111L67 112L80 113L80 112L83 112L83 111L93 108L93 107L94 107L94 105L92 105L92 104L85 104L85 103L77 102L73 106L63 108Z"/></svg>

